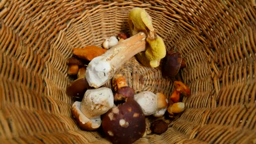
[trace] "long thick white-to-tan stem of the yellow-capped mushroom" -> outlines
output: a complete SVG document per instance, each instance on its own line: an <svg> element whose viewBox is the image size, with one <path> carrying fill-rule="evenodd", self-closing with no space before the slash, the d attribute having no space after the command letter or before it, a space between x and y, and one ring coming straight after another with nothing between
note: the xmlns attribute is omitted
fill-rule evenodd
<svg viewBox="0 0 256 144"><path fill-rule="evenodd" d="M139 32L121 43L110 48L101 56L90 61L86 70L86 80L89 85L99 88L110 80L117 69L135 56L137 53L146 50L146 35Z"/></svg>

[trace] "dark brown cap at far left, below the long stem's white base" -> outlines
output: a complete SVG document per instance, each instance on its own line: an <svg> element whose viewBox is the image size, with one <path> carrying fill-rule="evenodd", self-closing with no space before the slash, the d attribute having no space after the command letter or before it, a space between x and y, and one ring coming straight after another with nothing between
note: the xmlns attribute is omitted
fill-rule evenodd
<svg viewBox="0 0 256 144"><path fill-rule="evenodd" d="M89 84L85 77L78 78L77 80L72 81L67 86L67 95L72 97L83 98L85 91L89 88Z"/></svg>

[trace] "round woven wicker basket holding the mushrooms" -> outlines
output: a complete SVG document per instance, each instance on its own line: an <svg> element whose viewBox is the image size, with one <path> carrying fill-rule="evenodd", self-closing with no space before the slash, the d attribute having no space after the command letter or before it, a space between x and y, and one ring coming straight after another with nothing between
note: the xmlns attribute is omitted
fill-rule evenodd
<svg viewBox="0 0 256 144"><path fill-rule="evenodd" d="M1 143L109 143L72 119L66 60L74 47L127 32L133 7L147 10L187 67L165 79L132 58L118 72L136 93L170 95L173 80L192 92L168 131L136 144L256 143L255 0L1 0Z"/></svg>

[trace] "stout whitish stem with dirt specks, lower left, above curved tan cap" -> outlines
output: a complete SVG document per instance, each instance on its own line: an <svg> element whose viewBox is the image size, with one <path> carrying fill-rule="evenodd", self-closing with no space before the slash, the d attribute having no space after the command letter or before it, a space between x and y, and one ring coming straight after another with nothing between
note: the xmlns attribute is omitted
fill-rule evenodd
<svg viewBox="0 0 256 144"><path fill-rule="evenodd" d="M81 101L81 112L94 118L103 115L114 106L114 97L110 88L89 89L85 92Z"/></svg>

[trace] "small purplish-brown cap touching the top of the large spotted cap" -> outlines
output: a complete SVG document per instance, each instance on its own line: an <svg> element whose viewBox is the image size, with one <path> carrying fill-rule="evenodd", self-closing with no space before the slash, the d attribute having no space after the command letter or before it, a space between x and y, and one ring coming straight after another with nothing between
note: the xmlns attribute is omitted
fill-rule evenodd
<svg viewBox="0 0 256 144"><path fill-rule="evenodd" d="M125 86L117 90L114 101L125 100L126 98L134 98L135 91L133 88Z"/></svg>

